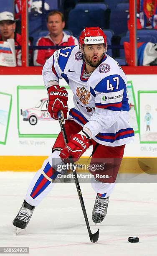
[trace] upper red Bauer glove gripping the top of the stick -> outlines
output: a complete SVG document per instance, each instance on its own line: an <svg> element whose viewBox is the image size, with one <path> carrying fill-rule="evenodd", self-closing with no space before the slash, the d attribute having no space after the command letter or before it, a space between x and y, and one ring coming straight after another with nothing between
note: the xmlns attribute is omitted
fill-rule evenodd
<svg viewBox="0 0 157 256"><path fill-rule="evenodd" d="M65 87L59 87L59 85L53 85L48 88L48 102L47 110L51 115L51 118L58 120L58 110L63 111L64 118L67 118L68 112L68 93Z"/></svg>

